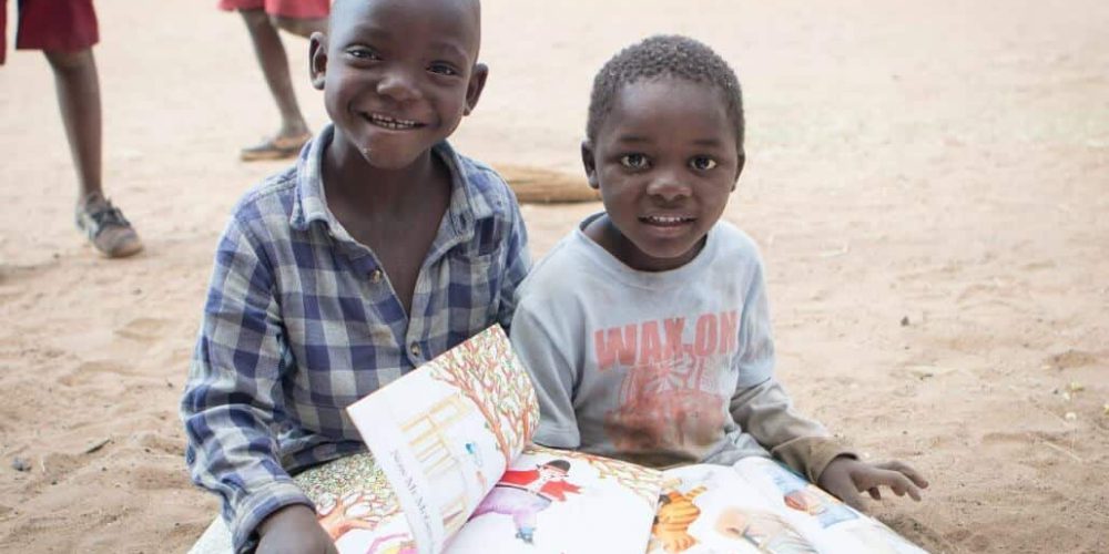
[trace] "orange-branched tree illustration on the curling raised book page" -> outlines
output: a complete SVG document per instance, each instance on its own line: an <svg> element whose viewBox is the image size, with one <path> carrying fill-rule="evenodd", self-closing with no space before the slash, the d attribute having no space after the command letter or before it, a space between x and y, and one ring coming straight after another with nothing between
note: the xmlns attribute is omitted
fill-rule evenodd
<svg viewBox="0 0 1109 554"><path fill-rule="evenodd" d="M505 464L531 437L539 403L531 380L519 367L500 329L489 329L431 362L431 376L474 401L497 439Z"/></svg>

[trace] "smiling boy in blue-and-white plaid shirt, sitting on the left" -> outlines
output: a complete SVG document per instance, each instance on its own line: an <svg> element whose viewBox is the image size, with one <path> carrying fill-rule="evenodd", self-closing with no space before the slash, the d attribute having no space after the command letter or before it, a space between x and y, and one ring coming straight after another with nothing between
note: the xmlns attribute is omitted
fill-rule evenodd
<svg viewBox="0 0 1109 554"><path fill-rule="evenodd" d="M235 208L182 401L236 551L332 548L289 474L364 450L348 404L511 321L519 207L445 142L485 85L479 39L477 0L339 0L311 39L334 124Z"/></svg>

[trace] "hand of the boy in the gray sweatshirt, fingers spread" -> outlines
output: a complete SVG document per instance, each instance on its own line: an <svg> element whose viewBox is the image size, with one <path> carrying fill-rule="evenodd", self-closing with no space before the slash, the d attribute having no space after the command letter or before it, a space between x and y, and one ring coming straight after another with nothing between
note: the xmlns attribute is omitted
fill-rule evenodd
<svg viewBox="0 0 1109 554"><path fill-rule="evenodd" d="M865 510L863 496L858 494L863 491L868 492L874 500L882 500L879 488L884 485L898 496L908 494L913 500L919 501L920 491L917 488L928 488L928 482L905 463L866 463L853 458L832 460L816 484L858 511Z"/></svg>

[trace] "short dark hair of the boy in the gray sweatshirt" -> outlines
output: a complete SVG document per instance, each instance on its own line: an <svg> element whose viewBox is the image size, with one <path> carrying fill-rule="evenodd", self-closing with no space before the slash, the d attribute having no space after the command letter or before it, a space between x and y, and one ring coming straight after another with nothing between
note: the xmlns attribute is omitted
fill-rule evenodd
<svg viewBox="0 0 1109 554"><path fill-rule="evenodd" d="M743 154L743 93L732 68L705 44L678 34L657 34L613 55L593 78L586 136L593 141L620 89L638 81L671 76L715 86L735 126L735 147Z"/></svg>

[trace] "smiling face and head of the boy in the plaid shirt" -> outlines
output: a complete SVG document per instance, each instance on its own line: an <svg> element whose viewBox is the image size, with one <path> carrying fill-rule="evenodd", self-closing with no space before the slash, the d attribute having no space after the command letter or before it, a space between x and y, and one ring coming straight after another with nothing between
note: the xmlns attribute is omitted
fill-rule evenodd
<svg viewBox="0 0 1109 554"><path fill-rule="evenodd" d="M340 0L312 39L313 84L335 123L333 147L374 167L408 167L477 104L476 0Z"/></svg>

